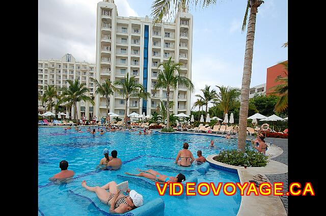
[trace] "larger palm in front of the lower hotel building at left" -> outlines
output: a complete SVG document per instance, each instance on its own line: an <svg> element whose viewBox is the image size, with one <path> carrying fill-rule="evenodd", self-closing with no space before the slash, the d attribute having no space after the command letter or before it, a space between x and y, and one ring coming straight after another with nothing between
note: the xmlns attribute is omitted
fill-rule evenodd
<svg viewBox="0 0 326 216"><path fill-rule="evenodd" d="M62 88L62 98L60 100L60 103L62 102L68 102L73 104L74 111L75 111L75 117L73 119L76 119L78 122L78 115L77 115L77 102L79 101L90 101L93 105L95 104L94 101L90 96L87 96L85 93L89 92L89 89L86 87L85 83L79 84L79 80L76 79L74 82L71 80L67 80L69 87L68 88Z"/></svg>

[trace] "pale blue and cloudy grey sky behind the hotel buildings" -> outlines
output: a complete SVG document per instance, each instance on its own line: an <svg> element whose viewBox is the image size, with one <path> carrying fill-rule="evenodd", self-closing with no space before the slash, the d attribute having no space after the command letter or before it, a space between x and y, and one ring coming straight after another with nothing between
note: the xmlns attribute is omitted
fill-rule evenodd
<svg viewBox="0 0 326 216"><path fill-rule="evenodd" d="M39 60L61 59L95 63L96 7L99 0L39 0ZM266 71L287 60L282 47L288 36L288 4L266 0L258 8L251 87L266 83ZM145 17L153 0L115 0L119 16ZM191 104L205 85L241 88L247 30L241 32L246 0L218 1L208 8L189 7L194 16ZM248 23L248 22L247 22ZM209 105L210 107L211 105ZM198 107L193 110L198 110Z"/></svg>

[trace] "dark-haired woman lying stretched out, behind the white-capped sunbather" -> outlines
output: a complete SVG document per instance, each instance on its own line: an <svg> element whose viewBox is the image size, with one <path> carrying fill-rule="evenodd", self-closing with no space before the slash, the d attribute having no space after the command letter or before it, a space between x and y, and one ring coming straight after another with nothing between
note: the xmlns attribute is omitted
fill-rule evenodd
<svg viewBox="0 0 326 216"><path fill-rule="evenodd" d="M164 182L182 182L185 180L185 176L181 173L179 173L176 177L173 176L167 176L167 175L161 175L159 172L155 170L140 170L137 169L139 174L131 174L128 172L125 172L127 175L133 175L133 176L140 176L140 177L145 177L149 178L151 180L154 180L155 182L158 183L164 183Z"/></svg>

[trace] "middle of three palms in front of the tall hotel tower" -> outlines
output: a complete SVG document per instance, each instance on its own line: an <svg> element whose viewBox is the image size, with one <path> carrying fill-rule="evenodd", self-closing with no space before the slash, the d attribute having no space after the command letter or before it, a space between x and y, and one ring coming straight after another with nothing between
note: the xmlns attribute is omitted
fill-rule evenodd
<svg viewBox="0 0 326 216"><path fill-rule="evenodd" d="M124 116L124 124L127 126L127 107L128 107L128 100L131 95L134 95L138 92L138 89L143 89L143 85L135 83L134 76L129 78L129 74L124 77L124 82L122 80L116 80L114 85L119 85L122 88L122 92L118 91L119 94L122 94L126 100L126 110Z"/></svg>

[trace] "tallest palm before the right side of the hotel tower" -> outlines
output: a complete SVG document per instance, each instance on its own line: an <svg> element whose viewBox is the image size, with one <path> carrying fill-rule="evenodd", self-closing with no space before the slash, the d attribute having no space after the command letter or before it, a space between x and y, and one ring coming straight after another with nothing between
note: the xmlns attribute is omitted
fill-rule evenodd
<svg viewBox="0 0 326 216"><path fill-rule="evenodd" d="M184 76L180 76L179 70L181 63L174 63L171 61L171 58L167 62L161 62L157 68L160 66L163 67L163 70L161 70L157 75L157 83L154 86L154 90L157 90L159 88L166 88L167 89L167 128L170 127L170 112L169 112L169 105L170 105L170 88L176 89L179 84L184 85L187 89L193 90L194 84L190 79ZM175 71L177 71L177 74L175 74Z"/></svg>

